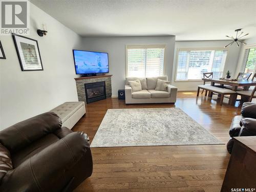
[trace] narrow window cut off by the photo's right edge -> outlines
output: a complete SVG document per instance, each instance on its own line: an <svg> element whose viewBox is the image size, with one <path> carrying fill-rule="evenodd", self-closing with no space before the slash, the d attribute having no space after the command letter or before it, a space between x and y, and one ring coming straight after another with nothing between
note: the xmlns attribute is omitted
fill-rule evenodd
<svg viewBox="0 0 256 192"><path fill-rule="evenodd" d="M256 71L256 48L245 49L245 55L243 59L244 73L254 74Z"/></svg>

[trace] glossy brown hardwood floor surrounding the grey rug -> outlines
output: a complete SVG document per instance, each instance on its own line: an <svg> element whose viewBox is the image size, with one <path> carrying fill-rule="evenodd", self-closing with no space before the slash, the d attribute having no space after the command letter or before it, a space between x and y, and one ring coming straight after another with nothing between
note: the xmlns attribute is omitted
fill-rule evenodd
<svg viewBox="0 0 256 192"><path fill-rule="evenodd" d="M204 94L203 94L204 95ZM109 98L86 105L86 118L73 131L86 132L92 140L108 109L181 108L223 142L233 116L240 108L217 96L196 98L196 92L179 92L174 104L129 104ZM218 100L219 101L219 100ZM182 192L220 191L230 155L225 145L179 145L92 148L93 174L75 191Z"/></svg>

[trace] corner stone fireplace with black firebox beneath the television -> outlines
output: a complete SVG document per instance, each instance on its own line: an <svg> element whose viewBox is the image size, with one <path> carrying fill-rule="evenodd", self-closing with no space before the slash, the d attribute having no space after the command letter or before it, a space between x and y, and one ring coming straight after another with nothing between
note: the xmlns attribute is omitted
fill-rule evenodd
<svg viewBox="0 0 256 192"><path fill-rule="evenodd" d="M101 75L75 78L78 100L90 103L111 97L111 76ZM102 86L103 84L104 86Z"/></svg>

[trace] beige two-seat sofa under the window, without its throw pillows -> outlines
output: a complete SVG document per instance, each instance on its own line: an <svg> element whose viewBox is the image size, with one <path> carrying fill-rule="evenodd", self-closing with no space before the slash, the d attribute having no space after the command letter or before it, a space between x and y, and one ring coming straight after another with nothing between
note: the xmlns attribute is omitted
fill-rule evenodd
<svg viewBox="0 0 256 192"><path fill-rule="evenodd" d="M142 91L132 92L129 81L146 79L147 87L142 87ZM157 79L167 80L167 76L159 77L126 77L125 79L125 103L175 103L177 97L177 88L168 84L166 91L156 91Z"/></svg>

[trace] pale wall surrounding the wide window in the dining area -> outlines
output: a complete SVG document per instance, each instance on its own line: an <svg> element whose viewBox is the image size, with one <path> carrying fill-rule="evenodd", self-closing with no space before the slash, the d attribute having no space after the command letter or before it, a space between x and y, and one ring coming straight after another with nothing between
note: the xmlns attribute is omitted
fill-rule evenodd
<svg viewBox="0 0 256 192"><path fill-rule="evenodd" d="M176 71L176 64L177 64L177 51L181 48L223 48L226 46L230 41L226 40L212 40L212 41L176 41L175 42L175 53L174 53L174 66L173 66L173 78L172 84L178 87L178 91L194 91L197 90L197 86L203 84L203 81L183 81L178 82L175 81L175 71ZM231 77L236 76L236 69L238 63L238 57L240 53L240 48L234 46L234 44L228 47L228 53L226 57L226 63L224 68L225 75L226 71L231 72Z"/></svg>

